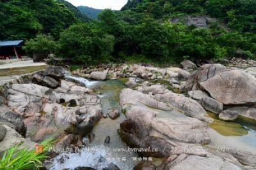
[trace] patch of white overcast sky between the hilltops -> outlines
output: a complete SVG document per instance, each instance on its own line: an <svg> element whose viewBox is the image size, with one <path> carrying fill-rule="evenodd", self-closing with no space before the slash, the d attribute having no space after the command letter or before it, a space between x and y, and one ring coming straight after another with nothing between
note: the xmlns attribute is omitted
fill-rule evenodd
<svg viewBox="0 0 256 170"><path fill-rule="evenodd" d="M120 10L127 0L66 0L74 6L89 6L97 9L111 8L112 10Z"/></svg>

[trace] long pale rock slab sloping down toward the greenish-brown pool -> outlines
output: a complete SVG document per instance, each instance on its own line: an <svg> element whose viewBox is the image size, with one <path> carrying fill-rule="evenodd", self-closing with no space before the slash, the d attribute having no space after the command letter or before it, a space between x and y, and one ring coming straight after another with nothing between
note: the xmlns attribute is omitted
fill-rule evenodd
<svg viewBox="0 0 256 170"><path fill-rule="evenodd" d="M198 118L206 122L213 122L212 118L205 117L206 111L204 108L189 97L169 92L163 95L156 95L155 98L183 111L189 117Z"/></svg>

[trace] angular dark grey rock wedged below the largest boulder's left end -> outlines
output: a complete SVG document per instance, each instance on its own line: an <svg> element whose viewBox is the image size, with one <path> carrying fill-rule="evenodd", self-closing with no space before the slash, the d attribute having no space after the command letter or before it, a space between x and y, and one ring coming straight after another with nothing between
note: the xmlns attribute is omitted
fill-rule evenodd
<svg viewBox="0 0 256 170"><path fill-rule="evenodd" d="M223 110L223 104L212 99L211 97L204 97L202 99L202 106L213 113L220 114Z"/></svg>

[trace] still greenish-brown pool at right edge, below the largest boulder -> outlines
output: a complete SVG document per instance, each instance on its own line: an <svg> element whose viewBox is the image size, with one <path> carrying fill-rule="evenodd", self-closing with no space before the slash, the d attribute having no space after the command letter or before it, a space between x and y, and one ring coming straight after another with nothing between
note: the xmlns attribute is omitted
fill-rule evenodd
<svg viewBox="0 0 256 170"><path fill-rule="evenodd" d="M212 142L208 145L213 148L227 147L256 152L256 124L247 118L238 117L234 122L225 122L218 119L218 115L208 112L214 122L209 125L208 134Z"/></svg>

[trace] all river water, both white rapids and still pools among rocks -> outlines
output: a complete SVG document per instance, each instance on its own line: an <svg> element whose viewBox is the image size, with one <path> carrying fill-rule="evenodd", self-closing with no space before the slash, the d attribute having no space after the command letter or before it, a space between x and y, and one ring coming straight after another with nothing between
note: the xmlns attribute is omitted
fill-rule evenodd
<svg viewBox="0 0 256 170"><path fill-rule="evenodd" d="M72 169L77 166L89 166L94 167L95 169L102 169L102 167L109 163L115 164L120 169L132 169L132 167L138 164L138 161L135 161L132 158L138 157L138 155L134 152L126 152L128 150L128 146L117 134L120 122L125 119L125 115L121 112L119 104L119 94L120 90L125 88L124 83L127 79L121 78L118 80L88 81L84 78L74 76L69 76L68 78L72 78L73 80L83 83L86 87L92 89L95 94L99 94L104 114L106 114L109 109L113 108L119 110L121 114L116 120L102 118L93 129L95 138L92 143L87 145L81 153L63 153L59 155L54 159L51 169ZM177 110L153 110L159 112L157 117L186 117L186 115ZM209 117L214 118L214 123L209 125L210 128L208 129L208 133L211 136L212 142L207 146L218 150L221 150L221 148L236 148L249 152L256 152L255 122L250 122L243 118L238 118L236 122L223 122L218 120L218 117L213 113L209 113ZM104 146L104 140L107 136L110 137L110 142L108 145ZM88 139L84 138L84 141L86 140L88 141ZM101 157L106 157L107 159L99 164L99 159ZM60 163L60 159L62 163Z"/></svg>

